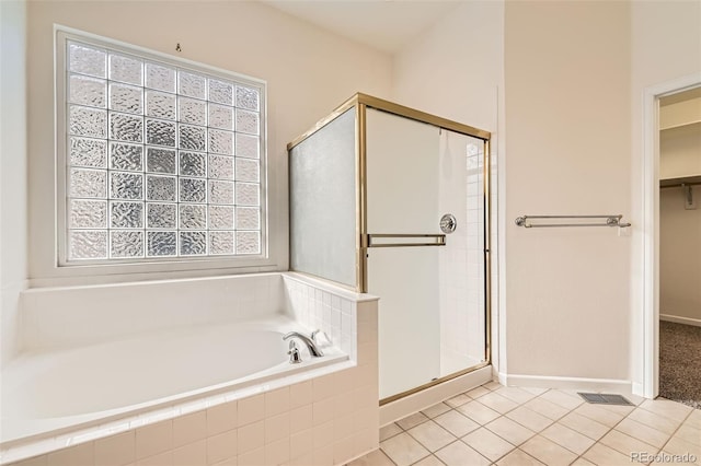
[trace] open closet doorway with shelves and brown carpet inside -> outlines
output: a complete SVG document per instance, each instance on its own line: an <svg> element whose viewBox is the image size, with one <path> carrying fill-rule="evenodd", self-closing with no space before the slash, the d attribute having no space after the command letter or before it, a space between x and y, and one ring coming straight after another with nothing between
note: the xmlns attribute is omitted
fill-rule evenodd
<svg viewBox="0 0 701 466"><path fill-rule="evenodd" d="M658 115L659 396L701 408L701 86Z"/></svg>

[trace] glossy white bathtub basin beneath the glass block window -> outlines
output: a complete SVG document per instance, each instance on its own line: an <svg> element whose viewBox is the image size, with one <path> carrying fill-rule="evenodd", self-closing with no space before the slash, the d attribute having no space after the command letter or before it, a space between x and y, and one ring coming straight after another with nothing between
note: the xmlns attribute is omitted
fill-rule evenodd
<svg viewBox="0 0 701 466"><path fill-rule="evenodd" d="M3 443L55 434L346 360L335 348L290 364L279 316L202 326L18 358L2 377Z"/></svg>

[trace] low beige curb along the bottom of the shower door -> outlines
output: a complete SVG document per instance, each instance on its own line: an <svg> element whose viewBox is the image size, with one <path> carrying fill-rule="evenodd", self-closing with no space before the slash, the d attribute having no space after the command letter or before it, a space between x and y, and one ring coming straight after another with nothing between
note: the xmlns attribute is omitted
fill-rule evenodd
<svg viewBox="0 0 701 466"><path fill-rule="evenodd" d="M492 380L492 366L478 369L459 377L434 385L413 395L380 406L380 426L398 421L444 399L478 387Z"/></svg>

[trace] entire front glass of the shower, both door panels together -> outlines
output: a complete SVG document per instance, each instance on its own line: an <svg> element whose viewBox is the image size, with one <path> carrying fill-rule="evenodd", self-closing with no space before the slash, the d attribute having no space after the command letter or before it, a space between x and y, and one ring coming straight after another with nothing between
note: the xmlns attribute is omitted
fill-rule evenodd
<svg viewBox="0 0 701 466"><path fill-rule="evenodd" d="M440 234L446 213L457 223L444 246L367 249L381 399L485 362L483 158L480 139L368 109L368 233Z"/></svg>

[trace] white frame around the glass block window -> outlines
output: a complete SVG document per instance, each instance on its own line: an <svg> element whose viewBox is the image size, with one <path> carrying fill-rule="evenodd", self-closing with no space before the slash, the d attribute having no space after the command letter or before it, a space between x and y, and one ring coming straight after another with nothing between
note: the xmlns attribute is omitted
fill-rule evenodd
<svg viewBox="0 0 701 466"><path fill-rule="evenodd" d="M228 81L255 88L260 92L260 208L261 208L261 253L257 255L231 256L171 256L171 257L139 257L136 259L88 259L68 260L68 43L69 40L106 48L125 55L131 55L145 60L156 61L170 67L176 67L205 73L208 77L221 78ZM78 30L55 26L55 115L56 115L56 214L55 214L55 257L56 267L61 275L119 275L154 271L187 271L226 269L230 272L266 271L278 267L271 247L274 242L269 234L269 194L268 194L268 161L267 161L267 83L263 80L246 77L220 68L182 59L171 55L153 51L143 47L84 33ZM145 154L146 162L146 154ZM146 217L146 212L143 213ZM146 221L146 218L145 218ZM145 247L146 235L145 235Z"/></svg>

